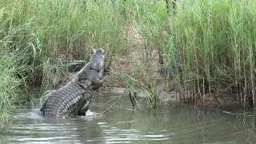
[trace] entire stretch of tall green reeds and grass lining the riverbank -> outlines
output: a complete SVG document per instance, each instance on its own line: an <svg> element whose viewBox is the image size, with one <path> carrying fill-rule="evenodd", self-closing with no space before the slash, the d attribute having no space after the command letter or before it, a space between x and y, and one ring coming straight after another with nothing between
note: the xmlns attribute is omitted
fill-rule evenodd
<svg viewBox="0 0 256 144"><path fill-rule="evenodd" d="M129 75L126 82L137 82L134 89L150 91L149 103L163 77L182 102L230 94L255 104L254 1L2 0L0 6L2 122L14 97L26 98L17 90L43 92L65 82L92 47L106 50L106 67L131 57L130 70L119 70ZM158 69L162 75L153 74Z"/></svg>

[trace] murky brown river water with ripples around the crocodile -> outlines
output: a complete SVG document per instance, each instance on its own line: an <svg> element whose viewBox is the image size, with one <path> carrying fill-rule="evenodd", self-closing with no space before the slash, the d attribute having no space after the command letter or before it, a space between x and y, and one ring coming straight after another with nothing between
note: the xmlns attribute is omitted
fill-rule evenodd
<svg viewBox="0 0 256 144"><path fill-rule="evenodd" d="M94 97L90 110L106 110L117 96ZM111 102L110 99L112 99ZM107 103L106 103L107 102ZM162 105L156 114L132 110L122 98L108 113L73 119L42 118L29 106L14 111L4 143L256 143L254 110Z"/></svg>

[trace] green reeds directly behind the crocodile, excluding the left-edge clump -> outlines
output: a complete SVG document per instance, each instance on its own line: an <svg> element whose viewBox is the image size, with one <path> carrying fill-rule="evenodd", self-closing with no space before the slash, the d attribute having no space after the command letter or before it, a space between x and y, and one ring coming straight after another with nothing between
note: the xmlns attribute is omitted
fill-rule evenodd
<svg viewBox="0 0 256 144"><path fill-rule="evenodd" d="M92 47L104 47L108 62L126 45L126 19L122 1L0 1L11 14L14 49L21 52L30 85L43 83L43 90L63 82L67 67L60 62L90 57ZM9 18L9 17L6 17ZM69 66L69 65L65 65ZM55 78L48 76L54 75ZM52 80L51 80L52 79Z"/></svg>

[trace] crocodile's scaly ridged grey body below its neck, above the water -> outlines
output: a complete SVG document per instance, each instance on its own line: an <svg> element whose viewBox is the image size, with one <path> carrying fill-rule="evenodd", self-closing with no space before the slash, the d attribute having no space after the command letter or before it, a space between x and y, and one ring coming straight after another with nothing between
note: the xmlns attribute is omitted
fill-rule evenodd
<svg viewBox="0 0 256 144"><path fill-rule="evenodd" d="M41 108L43 116L69 118L78 114L86 104L89 91L78 83L70 83L54 91ZM88 103L88 102L87 102Z"/></svg>

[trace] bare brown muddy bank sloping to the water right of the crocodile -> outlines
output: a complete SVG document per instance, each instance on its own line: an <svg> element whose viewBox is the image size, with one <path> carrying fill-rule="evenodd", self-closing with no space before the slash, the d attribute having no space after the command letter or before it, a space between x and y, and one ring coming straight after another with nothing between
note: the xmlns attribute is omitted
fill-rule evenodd
<svg viewBox="0 0 256 144"><path fill-rule="evenodd" d="M165 75L159 74L159 70L162 69L162 65L158 63L158 54L157 50L152 50L152 58L153 61L151 62L149 69L150 74L149 77L146 78L148 75L143 75L142 70L138 66L138 56L139 52L132 52L131 54L126 55L119 55L117 58L114 59L112 65L110 66L110 70L114 72L122 71L130 76L137 78L140 82L148 82L154 81L156 82L156 93L158 95L158 99L162 103L173 103L173 102L182 102L182 98L180 94L175 91L174 86L174 79L170 77L168 81L164 78ZM137 58L136 58L137 57ZM68 74L70 81L74 78L76 73ZM96 94L115 94L120 95L126 90L126 83L123 81L120 75L113 74L108 72L104 76L103 86L100 88ZM135 90L137 96L140 98L146 98L149 96L147 91L143 90ZM129 93L126 92L128 95ZM196 99L196 96L194 97ZM234 95L229 94L205 94L203 99L198 102L194 99L190 99L187 103L203 105L203 106L251 106L250 102L239 102L238 98Z"/></svg>

